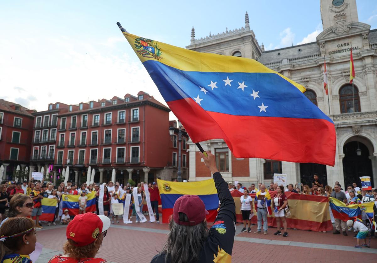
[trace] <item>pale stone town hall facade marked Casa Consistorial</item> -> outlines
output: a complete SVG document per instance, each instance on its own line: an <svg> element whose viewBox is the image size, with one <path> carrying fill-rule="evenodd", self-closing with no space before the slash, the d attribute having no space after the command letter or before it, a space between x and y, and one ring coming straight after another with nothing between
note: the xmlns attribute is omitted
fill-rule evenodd
<svg viewBox="0 0 377 263"><path fill-rule="evenodd" d="M377 186L377 30L361 23L356 0L320 0L323 24L317 41L265 51L250 29L245 27L195 39L187 49L222 55L252 58L307 88L305 95L333 119L337 134L335 166L299 164L265 159L237 159L221 139L203 142L204 148L216 153L218 165L224 167L226 180L244 183L271 182L273 173L287 174L288 182L310 183L314 173L333 186L351 182L360 184L360 176L371 176ZM356 77L349 84L350 50ZM324 63L328 72L328 90L323 89ZM226 152L226 154L224 154ZM190 180L207 179L201 172L198 149L190 144ZM223 161L225 158L225 162Z"/></svg>

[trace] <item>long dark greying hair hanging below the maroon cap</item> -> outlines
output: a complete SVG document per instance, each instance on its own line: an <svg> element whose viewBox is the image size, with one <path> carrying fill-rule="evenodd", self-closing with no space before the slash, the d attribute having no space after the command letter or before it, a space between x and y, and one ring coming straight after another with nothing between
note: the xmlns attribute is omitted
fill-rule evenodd
<svg viewBox="0 0 377 263"><path fill-rule="evenodd" d="M184 213L179 213L179 221L188 222ZM203 243L209 235L207 222L195 226L178 225L173 217L169 222L169 234L160 254L166 254L165 262L189 263L199 259Z"/></svg>

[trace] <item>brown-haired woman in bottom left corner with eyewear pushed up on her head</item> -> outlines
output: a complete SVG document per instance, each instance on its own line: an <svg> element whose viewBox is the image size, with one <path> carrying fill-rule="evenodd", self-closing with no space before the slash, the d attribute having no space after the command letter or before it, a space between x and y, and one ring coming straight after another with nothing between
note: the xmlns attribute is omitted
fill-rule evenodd
<svg viewBox="0 0 377 263"><path fill-rule="evenodd" d="M13 217L0 228L0 262L32 263L29 255L35 250L35 223L26 217Z"/></svg>

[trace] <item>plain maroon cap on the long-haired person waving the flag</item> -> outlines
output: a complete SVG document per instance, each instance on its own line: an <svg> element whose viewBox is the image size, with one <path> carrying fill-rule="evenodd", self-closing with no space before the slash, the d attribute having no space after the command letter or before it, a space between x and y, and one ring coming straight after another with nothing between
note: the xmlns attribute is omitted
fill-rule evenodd
<svg viewBox="0 0 377 263"><path fill-rule="evenodd" d="M179 213L184 213L189 219L189 222L179 221ZM173 220L178 225L195 226L203 222L205 215L209 214L205 210L205 205L199 196L185 195L179 197L173 207Z"/></svg>

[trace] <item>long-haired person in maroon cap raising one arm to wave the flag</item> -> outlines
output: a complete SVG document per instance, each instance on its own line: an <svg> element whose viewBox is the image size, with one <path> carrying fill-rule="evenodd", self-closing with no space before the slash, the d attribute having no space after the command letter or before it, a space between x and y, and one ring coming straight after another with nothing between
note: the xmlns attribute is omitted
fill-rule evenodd
<svg viewBox="0 0 377 263"><path fill-rule="evenodd" d="M168 257L167 262L231 262L236 233L236 205L227 183L216 168L215 156L209 151L207 154L208 157L205 157L200 153L205 165L213 174L221 203L215 223L209 229L209 233L202 231L204 234L200 236L191 236L190 232L194 231L189 231L187 226L196 228L198 232L195 233L199 233L203 225L206 228L205 212L207 211L198 196L179 197L174 204L168 240L162 247L162 251L153 257L152 263L165 263L165 257ZM187 220L182 221L182 216L187 216ZM183 231L187 233L182 233ZM182 237L185 237L184 240Z"/></svg>

